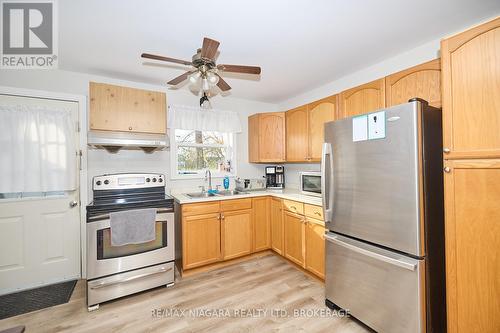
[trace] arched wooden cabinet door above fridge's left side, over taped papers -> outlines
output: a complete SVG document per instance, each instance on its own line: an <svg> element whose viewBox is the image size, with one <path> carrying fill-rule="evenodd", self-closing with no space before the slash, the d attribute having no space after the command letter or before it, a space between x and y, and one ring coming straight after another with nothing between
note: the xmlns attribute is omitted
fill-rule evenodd
<svg viewBox="0 0 500 333"><path fill-rule="evenodd" d="M347 118L385 107L385 79L345 90L339 95L340 118Z"/></svg>

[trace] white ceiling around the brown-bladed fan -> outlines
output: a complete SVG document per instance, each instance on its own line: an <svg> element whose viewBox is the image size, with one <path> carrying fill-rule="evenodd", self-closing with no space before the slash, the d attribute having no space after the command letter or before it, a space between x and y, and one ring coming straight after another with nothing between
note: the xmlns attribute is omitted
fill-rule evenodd
<svg viewBox="0 0 500 333"><path fill-rule="evenodd" d="M59 67L165 84L184 72L141 52L191 60L204 36L218 63L260 65L226 75L231 96L277 103L500 12L498 0L64 0ZM188 89L187 85L180 89Z"/></svg>

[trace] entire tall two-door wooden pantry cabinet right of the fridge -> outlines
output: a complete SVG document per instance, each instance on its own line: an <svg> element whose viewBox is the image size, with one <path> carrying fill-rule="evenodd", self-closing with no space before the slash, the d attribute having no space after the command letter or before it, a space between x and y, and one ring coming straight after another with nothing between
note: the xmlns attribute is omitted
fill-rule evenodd
<svg viewBox="0 0 500 333"><path fill-rule="evenodd" d="M448 332L500 332L500 18L441 56Z"/></svg>

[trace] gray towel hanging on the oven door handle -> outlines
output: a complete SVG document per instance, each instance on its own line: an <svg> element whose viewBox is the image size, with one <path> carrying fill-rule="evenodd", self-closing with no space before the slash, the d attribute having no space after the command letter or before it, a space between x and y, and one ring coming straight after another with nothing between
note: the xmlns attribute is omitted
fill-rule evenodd
<svg viewBox="0 0 500 333"><path fill-rule="evenodd" d="M156 239L156 208L109 214L111 245L141 244Z"/></svg>

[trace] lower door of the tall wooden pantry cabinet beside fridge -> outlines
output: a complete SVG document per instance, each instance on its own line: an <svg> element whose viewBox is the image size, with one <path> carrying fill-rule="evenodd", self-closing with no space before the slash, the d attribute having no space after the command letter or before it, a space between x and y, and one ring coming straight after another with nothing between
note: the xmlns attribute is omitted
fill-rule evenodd
<svg viewBox="0 0 500 333"><path fill-rule="evenodd" d="M500 159L445 166L448 332L499 332Z"/></svg>

